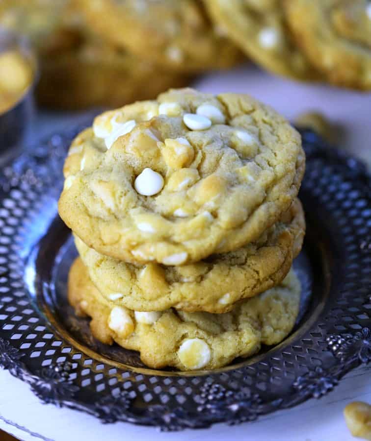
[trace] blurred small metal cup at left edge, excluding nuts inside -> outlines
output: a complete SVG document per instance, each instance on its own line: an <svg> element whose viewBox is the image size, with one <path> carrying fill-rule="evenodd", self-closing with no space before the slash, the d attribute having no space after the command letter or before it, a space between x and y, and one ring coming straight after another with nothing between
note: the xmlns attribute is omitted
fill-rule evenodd
<svg viewBox="0 0 371 441"><path fill-rule="evenodd" d="M18 51L29 63L32 74L27 88L14 101L9 102L9 108L5 108L0 113L0 155L2 157L5 152L18 151L18 147L22 145L33 115L33 91L37 79L36 58L27 39L0 28L0 54L8 50Z"/></svg>

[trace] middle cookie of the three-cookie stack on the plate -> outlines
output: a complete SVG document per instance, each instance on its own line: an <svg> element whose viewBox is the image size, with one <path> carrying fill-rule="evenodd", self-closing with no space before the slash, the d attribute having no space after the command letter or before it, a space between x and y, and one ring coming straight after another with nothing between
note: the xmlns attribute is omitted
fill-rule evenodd
<svg viewBox="0 0 371 441"><path fill-rule="evenodd" d="M277 285L300 252L305 231L298 199L257 242L181 267L135 266L97 253L76 238L79 255L103 296L136 311L225 313Z"/></svg>

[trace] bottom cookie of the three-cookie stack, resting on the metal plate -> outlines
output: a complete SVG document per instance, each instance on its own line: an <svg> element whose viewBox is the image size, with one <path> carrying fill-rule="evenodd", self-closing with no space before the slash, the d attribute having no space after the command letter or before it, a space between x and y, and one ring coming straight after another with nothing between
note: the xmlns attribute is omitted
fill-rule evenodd
<svg viewBox="0 0 371 441"><path fill-rule="evenodd" d="M280 343L291 332L299 310L300 282L291 270L280 285L226 314L175 309L137 313L103 299L77 259L69 274L68 297L78 315L92 318L95 338L139 351L150 368L214 369L257 353L263 344Z"/></svg>

